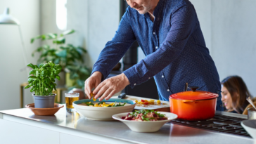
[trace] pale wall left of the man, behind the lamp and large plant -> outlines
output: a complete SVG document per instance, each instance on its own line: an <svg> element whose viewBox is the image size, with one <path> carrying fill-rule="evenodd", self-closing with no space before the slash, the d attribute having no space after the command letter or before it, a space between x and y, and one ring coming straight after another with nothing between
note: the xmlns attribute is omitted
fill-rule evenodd
<svg viewBox="0 0 256 144"><path fill-rule="evenodd" d="M67 37L67 44L87 49L87 65L92 67L105 43L112 39L120 21L119 0L68 0L68 28L77 32ZM56 26L55 0L0 0L0 13L6 7L20 20L28 63L37 63L39 55L31 53L41 46L40 41L30 44L30 39L48 32L60 33ZM0 25L0 110L20 107L20 84L27 81L18 27ZM29 70L30 71L30 70ZM33 103L29 90L24 92L24 105Z"/></svg>

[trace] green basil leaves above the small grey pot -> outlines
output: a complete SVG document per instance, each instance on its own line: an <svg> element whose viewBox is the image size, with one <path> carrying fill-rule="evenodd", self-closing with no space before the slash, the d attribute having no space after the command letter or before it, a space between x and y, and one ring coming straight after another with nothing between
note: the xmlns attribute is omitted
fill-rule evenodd
<svg viewBox="0 0 256 144"><path fill-rule="evenodd" d="M33 70L30 71L30 77L28 77L28 85L25 89L30 89L32 93L34 91L36 96L51 96L53 89L56 90L55 79L60 80L58 74L61 71L61 66L56 65L53 62L41 63L39 67L32 63L27 65Z"/></svg>

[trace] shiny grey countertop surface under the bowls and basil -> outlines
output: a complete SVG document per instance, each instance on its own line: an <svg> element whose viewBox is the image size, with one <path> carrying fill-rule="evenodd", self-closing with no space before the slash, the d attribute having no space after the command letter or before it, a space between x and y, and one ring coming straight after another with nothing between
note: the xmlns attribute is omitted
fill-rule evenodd
<svg viewBox="0 0 256 144"><path fill-rule="evenodd" d="M37 116L29 109L4 110L2 114L30 119L32 121L63 126L99 136L107 136L120 140L139 143L253 143L252 138L213 133L177 124L165 124L160 131L154 133L136 133L119 121L93 121L81 117L77 112L66 112L61 108L53 116ZM241 116L245 117L245 116Z"/></svg>

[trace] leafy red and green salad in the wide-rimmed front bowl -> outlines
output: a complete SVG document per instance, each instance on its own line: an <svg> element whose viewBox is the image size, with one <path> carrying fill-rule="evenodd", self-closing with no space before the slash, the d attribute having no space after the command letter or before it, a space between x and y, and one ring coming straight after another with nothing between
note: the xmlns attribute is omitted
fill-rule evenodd
<svg viewBox="0 0 256 144"><path fill-rule="evenodd" d="M165 114L160 114L155 110L135 110L135 112L128 113L124 120L131 121L160 121L168 119Z"/></svg>

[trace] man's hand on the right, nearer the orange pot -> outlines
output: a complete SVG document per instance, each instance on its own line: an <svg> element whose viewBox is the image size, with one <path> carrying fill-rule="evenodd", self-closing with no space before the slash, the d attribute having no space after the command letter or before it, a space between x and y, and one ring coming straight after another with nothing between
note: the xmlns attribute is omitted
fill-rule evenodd
<svg viewBox="0 0 256 144"><path fill-rule="evenodd" d="M94 98L98 98L101 95L100 101L105 98L105 100L110 99L115 93L122 91L125 86L129 85L129 80L122 73L115 77L110 77L109 79L105 79L99 84L96 89L94 89L93 93L96 96Z"/></svg>

